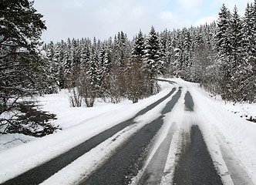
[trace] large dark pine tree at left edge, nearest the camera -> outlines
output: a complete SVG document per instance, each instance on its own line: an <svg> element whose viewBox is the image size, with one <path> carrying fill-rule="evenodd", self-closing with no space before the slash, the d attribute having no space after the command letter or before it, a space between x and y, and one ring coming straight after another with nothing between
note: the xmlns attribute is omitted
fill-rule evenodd
<svg viewBox="0 0 256 185"><path fill-rule="evenodd" d="M0 115L41 90L45 66L38 46L46 27L32 5L29 0L0 2ZM8 122L0 118L0 126Z"/></svg>

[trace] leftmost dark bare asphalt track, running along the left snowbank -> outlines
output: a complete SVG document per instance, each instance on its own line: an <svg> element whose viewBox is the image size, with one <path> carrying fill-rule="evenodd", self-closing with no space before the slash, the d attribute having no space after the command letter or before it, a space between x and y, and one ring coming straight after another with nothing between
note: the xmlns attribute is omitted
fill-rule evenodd
<svg viewBox="0 0 256 185"><path fill-rule="evenodd" d="M93 136L89 140L86 140L85 142L79 144L78 146L75 146L71 150L67 151L66 153L62 153L59 156L56 156L52 160L49 160L46 163L42 163L38 167L33 168L32 170L29 170L25 173L22 173L18 177L15 177L11 180L5 181L5 185L27 185L27 184L39 184L42 183L44 180L51 177L54 173L57 173L59 170L62 170L62 168L66 167L69 163L72 163L72 161L79 158L79 156L82 156L84 153L89 152L89 150L93 149L99 143L102 143L104 140L107 140L109 137L113 136L120 130L123 130L126 128L126 126L130 126L133 123L133 119L136 118L136 116L143 115L144 113L147 113L150 109L153 109L153 107L159 105L163 102L163 100L170 97L174 92L176 91L176 88L173 88L170 93L168 93L166 96L163 96L161 99L158 99L155 103L150 104L150 106L147 106L145 109L142 109L139 113L137 113L133 118L128 119L124 121L123 123L119 123L116 126L113 126L109 128L108 130L103 131L102 133L99 133L96 136Z"/></svg>

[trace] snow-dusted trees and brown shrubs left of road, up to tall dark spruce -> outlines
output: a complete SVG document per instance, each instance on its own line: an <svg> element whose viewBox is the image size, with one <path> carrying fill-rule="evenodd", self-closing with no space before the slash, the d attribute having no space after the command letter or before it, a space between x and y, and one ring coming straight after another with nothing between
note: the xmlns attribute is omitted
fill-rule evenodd
<svg viewBox="0 0 256 185"><path fill-rule="evenodd" d="M160 41L152 27L130 41L124 32L106 41L68 39L45 45L51 73L59 88L72 91L72 106L93 106L97 97L113 103L138 99L158 92L157 76L163 61ZM54 88L53 88L54 89Z"/></svg>

